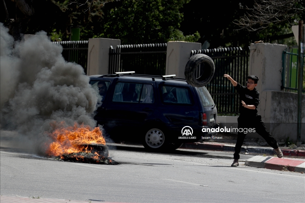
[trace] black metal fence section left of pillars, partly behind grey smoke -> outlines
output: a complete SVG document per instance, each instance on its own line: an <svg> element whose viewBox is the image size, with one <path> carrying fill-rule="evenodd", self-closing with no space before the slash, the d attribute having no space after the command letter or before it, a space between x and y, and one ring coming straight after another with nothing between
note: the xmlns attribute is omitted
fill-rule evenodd
<svg viewBox="0 0 305 203"><path fill-rule="evenodd" d="M87 73L88 41L61 41L53 42L63 46L63 58L68 62L75 62L84 68Z"/></svg>

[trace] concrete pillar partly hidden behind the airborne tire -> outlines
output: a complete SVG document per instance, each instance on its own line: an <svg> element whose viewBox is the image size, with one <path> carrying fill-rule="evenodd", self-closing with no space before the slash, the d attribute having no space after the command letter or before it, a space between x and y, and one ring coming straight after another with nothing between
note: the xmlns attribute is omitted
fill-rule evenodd
<svg viewBox="0 0 305 203"><path fill-rule="evenodd" d="M183 41L167 42L165 74L185 78L185 65L190 58L191 51L200 49L201 43Z"/></svg>

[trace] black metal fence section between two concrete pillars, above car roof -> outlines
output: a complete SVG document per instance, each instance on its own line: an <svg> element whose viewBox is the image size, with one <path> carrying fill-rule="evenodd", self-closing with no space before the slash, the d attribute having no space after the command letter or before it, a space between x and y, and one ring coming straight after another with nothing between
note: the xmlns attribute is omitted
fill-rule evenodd
<svg viewBox="0 0 305 203"><path fill-rule="evenodd" d="M109 74L165 75L167 44L129 44L109 49Z"/></svg>

